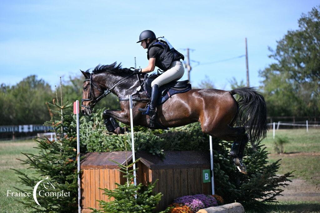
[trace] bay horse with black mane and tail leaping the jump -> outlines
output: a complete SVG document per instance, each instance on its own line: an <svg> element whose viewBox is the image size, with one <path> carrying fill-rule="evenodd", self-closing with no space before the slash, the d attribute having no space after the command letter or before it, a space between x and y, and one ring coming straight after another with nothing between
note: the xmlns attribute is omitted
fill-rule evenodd
<svg viewBox="0 0 320 213"><path fill-rule="evenodd" d="M109 132L124 133L116 120L130 125L128 96L132 95L133 124L148 127L149 117L138 111L148 103L148 97L140 88L146 74L133 74L131 69L122 68L121 63L117 65L116 62L111 65L98 65L91 73L89 70L81 72L85 77L81 101L84 115L90 115L101 98L113 93L120 100L121 110L105 110L103 118ZM239 95L237 101L233 97L235 94ZM160 125L178 127L200 122L204 133L221 140L234 141L234 144L240 143L239 153L242 152L242 155L248 140L255 148L256 144L266 137L268 130L265 100L253 87L231 91L191 89L172 95L162 105L156 106L156 110ZM242 166L241 158L236 165ZM243 170L241 172L246 173L245 167Z"/></svg>

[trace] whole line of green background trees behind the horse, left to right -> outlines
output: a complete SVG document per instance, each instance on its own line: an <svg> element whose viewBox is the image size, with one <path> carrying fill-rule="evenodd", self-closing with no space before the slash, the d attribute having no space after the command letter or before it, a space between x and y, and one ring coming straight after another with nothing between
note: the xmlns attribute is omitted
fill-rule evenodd
<svg viewBox="0 0 320 213"><path fill-rule="evenodd" d="M299 28L289 30L277 41L269 57L274 63L259 71L260 92L268 116L320 116L320 5L298 20ZM62 84L63 101L81 100L83 76L69 77ZM230 81L231 87L243 82ZM204 80L199 87L212 87ZM60 94L60 87L57 88ZM0 125L42 124L50 120L46 102L56 98L51 86L30 75L14 86L0 86ZM60 97L60 95L58 95ZM96 108L119 109L115 95L108 95Z"/></svg>

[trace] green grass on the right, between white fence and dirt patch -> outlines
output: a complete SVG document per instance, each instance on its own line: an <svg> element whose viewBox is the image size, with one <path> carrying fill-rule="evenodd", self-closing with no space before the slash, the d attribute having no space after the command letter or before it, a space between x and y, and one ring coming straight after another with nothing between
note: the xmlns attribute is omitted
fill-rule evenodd
<svg viewBox="0 0 320 213"><path fill-rule="evenodd" d="M288 129L276 130L276 137L287 137L289 143L284 144L285 153L294 154L281 154L278 155L274 151L274 141L272 138L272 130L268 132L267 138L262 141L265 144L267 151L270 153L268 160L270 163L278 159L281 166L279 174L285 174L289 171L296 170L293 178L307 180L311 184L318 184L320 186L320 130L309 129ZM312 153L314 155L312 155Z"/></svg>

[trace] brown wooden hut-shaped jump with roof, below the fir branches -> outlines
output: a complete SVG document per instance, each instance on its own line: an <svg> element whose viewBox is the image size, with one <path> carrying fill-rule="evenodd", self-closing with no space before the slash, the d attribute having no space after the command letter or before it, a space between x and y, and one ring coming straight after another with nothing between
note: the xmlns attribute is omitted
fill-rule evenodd
<svg viewBox="0 0 320 213"><path fill-rule="evenodd" d="M154 192L164 194L156 210L164 210L175 198L185 195L212 194L211 182L206 181L203 170L210 170L210 153L202 151L164 151L165 159L147 152L136 152L140 161L136 164L137 184L144 185L159 179ZM118 165L109 161L115 160L126 164L125 152L87 153L82 160L81 194L82 212L88 208L100 209L96 200L108 200L100 188L115 189L115 182L124 184L126 179L118 170ZM132 163L132 152L127 152L128 164ZM210 176L208 176L210 177Z"/></svg>

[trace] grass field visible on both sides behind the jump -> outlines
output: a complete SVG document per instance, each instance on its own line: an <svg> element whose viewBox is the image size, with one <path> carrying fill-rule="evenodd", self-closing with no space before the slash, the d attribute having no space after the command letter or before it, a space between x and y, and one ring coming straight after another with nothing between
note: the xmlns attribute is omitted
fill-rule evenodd
<svg viewBox="0 0 320 213"><path fill-rule="evenodd" d="M274 140L272 131L262 141L269 154L269 162L281 158L281 167L278 174L296 170L290 186L285 188L284 196L278 198L279 203L267 204L255 212L320 212L320 130L304 129L278 130L276 136L286 136L289 143L285 144L285 154L278 155L273 150ZM14 197L7 197L7 190L16 192L13 187L21 188L17 183L18 176L10 168L15 168L28 175L34 175L27 165L21 165L16 158L25 159L21 152L37 153L36 142L9 141L0 142L0 212L29 212ZM254 212L254 211L250 211Z"/></svg>

